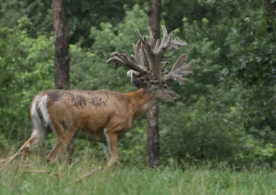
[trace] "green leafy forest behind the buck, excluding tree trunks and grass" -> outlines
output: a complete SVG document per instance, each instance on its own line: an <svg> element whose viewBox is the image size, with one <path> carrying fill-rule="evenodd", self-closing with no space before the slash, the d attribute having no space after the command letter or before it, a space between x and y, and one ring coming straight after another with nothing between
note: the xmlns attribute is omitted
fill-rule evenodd
<svg viewBox="0 0 276 195"><path fill-rule="evenodd" d="M276 164L275 1L164 0L161 25L188 43L170 59L195 59L184 87L169 84L184 99L161 102L160 164L227 162L236 167ZM274 7L273 7L274 6ZM135 30L147 35L148 1L67 1L70 88L136 90L106 60L113 51L132 53ZM269 9L269 8L272 8ZM274 9L274 10L273 10ZM31 132L30 102L55 89L51 1L0 0L0 150L18 148ZM43 146L50 151L55 135ZM100 144L75 141L103 158ZM119 141L119 161L145 165L146 117Z"/></svg>

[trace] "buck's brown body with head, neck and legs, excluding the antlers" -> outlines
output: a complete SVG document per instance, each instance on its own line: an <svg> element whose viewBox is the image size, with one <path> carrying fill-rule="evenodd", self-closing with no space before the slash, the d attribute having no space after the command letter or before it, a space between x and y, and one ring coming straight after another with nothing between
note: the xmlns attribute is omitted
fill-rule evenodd
<svg viewBox="0 0 276 195"><path fill-rule="evenodd" d="M57 134L57 142L47 156L50 163L57 162L59 155L75 135L80 139L103 143L110 167L118 158L117 141L124 138L132 121L144 115L155 100L177 101L181 97L169 87L165 89L158 84L150 89L129 93L108 90L42 91L32 100L32 106L35 106L30 109L32 136L22 148L22 159L53 131ZM45 117L42 105L46 106L48 117ZM47 119L50 119L48 124Z"/></svg>

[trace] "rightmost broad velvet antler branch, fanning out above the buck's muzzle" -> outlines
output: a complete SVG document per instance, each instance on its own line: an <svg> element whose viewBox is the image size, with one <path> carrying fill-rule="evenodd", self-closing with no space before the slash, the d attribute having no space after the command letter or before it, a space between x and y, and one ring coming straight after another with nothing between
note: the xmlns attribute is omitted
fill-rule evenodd
<svg viewBox="0 0 276 195"><path fill-rule="evenodd" d="M181 55L177 60L177 62L175 62L175 65L172 67L172 70L170 71L170 73L164 76L162 81L166 82L166 80L170 80L170 78L176 78L180 86L182 86L185 82L187 82L188 79L182 78L182 76L191 75L192 72L190 71L190 69L193 69L193 66L195 64L195 60L192 60L188 63L188 65L182 67L182 65L184 64L184 62L187 61L187 59L188 59L187 54Z"/></svg>

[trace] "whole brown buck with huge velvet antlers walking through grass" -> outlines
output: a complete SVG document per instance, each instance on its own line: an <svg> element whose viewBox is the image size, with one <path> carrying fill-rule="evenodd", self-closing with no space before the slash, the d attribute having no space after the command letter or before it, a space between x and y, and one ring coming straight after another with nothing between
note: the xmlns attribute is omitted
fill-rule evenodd
<svg viewBox="0 0 276 195"><path fill-rule="evenodd" d="M103 143L108 167L112 166L118 159L117 141L124 138L133 120L144 115L156 100L178 102L182 99L168 87L166 81L178 80L182 86L188 81L182 76L192 74L189 70L193 68L194 60L182 66L187 60L187 54L180 56L170 73L164 69L169 63L162 60L172 57L164 56L166 51L172 49L176 52L177 46L184 47L186 43L177 39L172 41L172 34L168 36L166 27L162 26L162 29L164 37L160 45L159 40L154 43L150 27L150 42L136 30L139 41L136 45L132 43L135 56L131 55L136 64L130 60L126 51L124 54L114 52L107 60L108 64L115 62L115 69L119 65L129 67L131 70L127 75L138 91L49 90L34 96L30 108L32 135L17 154L23 150L22 159L25 159L46 135L55 133L57 142L48 154L47 161L56 163L73 135L83 134L89 135L92 141Z"/></svg>

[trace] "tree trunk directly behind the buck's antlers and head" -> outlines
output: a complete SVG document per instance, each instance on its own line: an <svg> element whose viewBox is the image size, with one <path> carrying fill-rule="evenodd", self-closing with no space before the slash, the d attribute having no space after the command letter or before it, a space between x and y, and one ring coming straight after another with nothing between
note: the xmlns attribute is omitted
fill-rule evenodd
<svg viewBox="0 0 276 195"><path fill-rule="evenodd" d="M150 0L147 11L148 23L155 41L160 39L161 0ZM147 113L147 156L146 166L152 168L159 166L159 103L156 102Z"/></svg>

